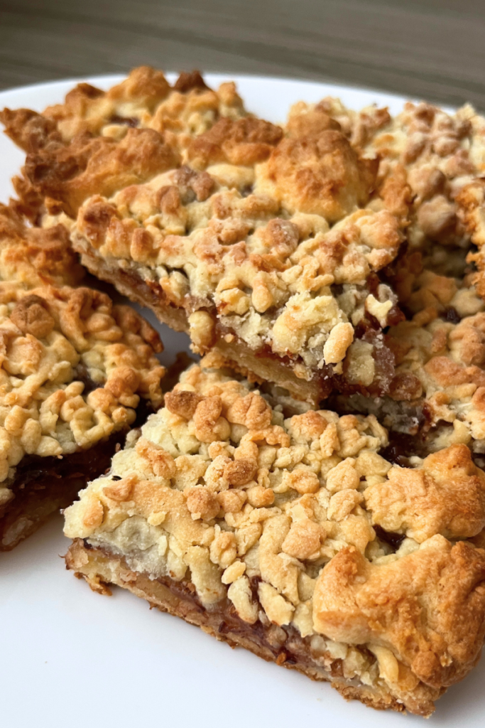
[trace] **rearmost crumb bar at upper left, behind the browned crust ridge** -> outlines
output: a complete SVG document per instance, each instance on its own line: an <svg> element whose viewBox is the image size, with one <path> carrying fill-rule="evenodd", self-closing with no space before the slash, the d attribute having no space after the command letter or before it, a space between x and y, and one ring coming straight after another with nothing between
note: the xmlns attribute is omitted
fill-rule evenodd
<svg viewBox="0 0 485 728"><path fill-rule="evenodd" d="M33 151L44 146L49 135L64 143L85 134L120 140L137 127L169 132L171 141L174 138L187 146L194 135L209 130L221 117L245 115L233 82L221 84L216 92L193 71L181 74L171 87L161 71L140 66L106 92L81 83L64 103L48 106L42 114L4 109L1 121L18 146Z"/></svg>

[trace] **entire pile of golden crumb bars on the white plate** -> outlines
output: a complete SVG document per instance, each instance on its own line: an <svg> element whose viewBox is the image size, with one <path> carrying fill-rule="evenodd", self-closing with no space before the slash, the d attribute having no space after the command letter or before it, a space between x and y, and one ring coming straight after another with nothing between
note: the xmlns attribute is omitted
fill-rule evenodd
<svg viewBox="0 0 485 728"><path fill-rule="evenodd" d="M145 67L0 119L4 547L84 488L93 590L429 716L485 635L485 120L278 126ZM156 333L84 268L203 356L161 408Z"/></svg>

